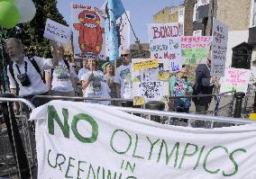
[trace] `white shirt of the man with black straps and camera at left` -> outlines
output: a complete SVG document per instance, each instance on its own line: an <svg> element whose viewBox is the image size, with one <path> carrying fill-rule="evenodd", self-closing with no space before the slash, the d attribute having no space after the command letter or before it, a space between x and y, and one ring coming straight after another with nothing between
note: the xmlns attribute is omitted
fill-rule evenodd
<svg viewBox="0 0 256 179"><path fill-rule="evenodd" d="M39 58L39 57L33 57L36 61L38 67L41 69L41 71L50 69L52 67L52 61L50 58ZM29 76L31 85L29 86L23 86L20 82L20 80L17 78L17 75L19 75L18 69L16 65L19 67L21 74L25 73L25 62L27 62L27 76ZM24 97L28 95L37 95L37 94L44 94L49 91L49 88L47 85L45 85L41 79L40 74L36 71L36 69L32 66L32 62L29 60L29 58L25 57L22 65L19 65L14 62L13 68L14 68L14 77L16 82L19 85L20 91L19 96ZM16 88L15 81L13 76L10 73L9 66L7 67L7 75L9 77L10 82L10 88L14 89Z"/></svg>

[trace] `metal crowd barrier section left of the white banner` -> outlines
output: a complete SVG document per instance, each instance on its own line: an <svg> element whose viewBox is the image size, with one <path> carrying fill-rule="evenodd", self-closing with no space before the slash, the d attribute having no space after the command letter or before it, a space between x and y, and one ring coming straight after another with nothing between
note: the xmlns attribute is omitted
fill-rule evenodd
<svg viewBox="0 0 256 179"><path fill-rule="evenodd" d="M34 131L28 110L14 115L14 103L20 103L23 109L34 109L23 98L0 97L0 177L30 178L36 166Z"/></svg>

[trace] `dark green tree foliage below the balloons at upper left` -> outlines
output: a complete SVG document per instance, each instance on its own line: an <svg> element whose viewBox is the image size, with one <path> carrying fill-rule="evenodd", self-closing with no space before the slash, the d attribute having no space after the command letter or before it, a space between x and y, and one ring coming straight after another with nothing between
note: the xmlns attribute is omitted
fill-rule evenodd
<svg viewBox="0 0 256 179"><path fill-rule="evenodd" d="M19 24L20 32L14 32L14 29L7 30L8 37L17 37L23 41L28 53L34 53L40 57L50 58L50 41L43 38L43 31L47 18L52 21L67 25L63 16L57 8L57 0L32 0L36 7L36 14L31 22ZM32 51L32 49L34 51Z"/></svg>

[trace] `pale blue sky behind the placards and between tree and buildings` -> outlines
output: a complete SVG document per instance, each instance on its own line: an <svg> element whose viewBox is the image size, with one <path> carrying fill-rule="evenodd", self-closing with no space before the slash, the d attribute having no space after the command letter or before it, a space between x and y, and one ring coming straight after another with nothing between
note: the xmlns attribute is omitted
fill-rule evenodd
<svg viewBox="0 0 256 179"><path fill-rule="evenodd" d="M70 4L72 2L101 7L105 0L58 0L59 12L62 13L69 25L71 24ZM122 0L122 2L124 9L131 13L131 22L135 34L142 43L146 43L148 42L147 24L152 22L153 15L160 12L166 6L182 4L184 0ZM131 43L134 43L134 41L131 31Z"/></svg>

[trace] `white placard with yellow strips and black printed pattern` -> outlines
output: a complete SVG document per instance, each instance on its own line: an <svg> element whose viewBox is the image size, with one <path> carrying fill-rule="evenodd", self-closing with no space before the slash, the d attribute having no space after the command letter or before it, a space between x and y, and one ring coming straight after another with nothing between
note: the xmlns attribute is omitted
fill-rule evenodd
<svg viewBox="0 0 256 179"><path fill-rule="evenodd" d="M169 59L132 59L133 103L137 103L140 96L144 103L168 101L169 62Z"/></svg>

